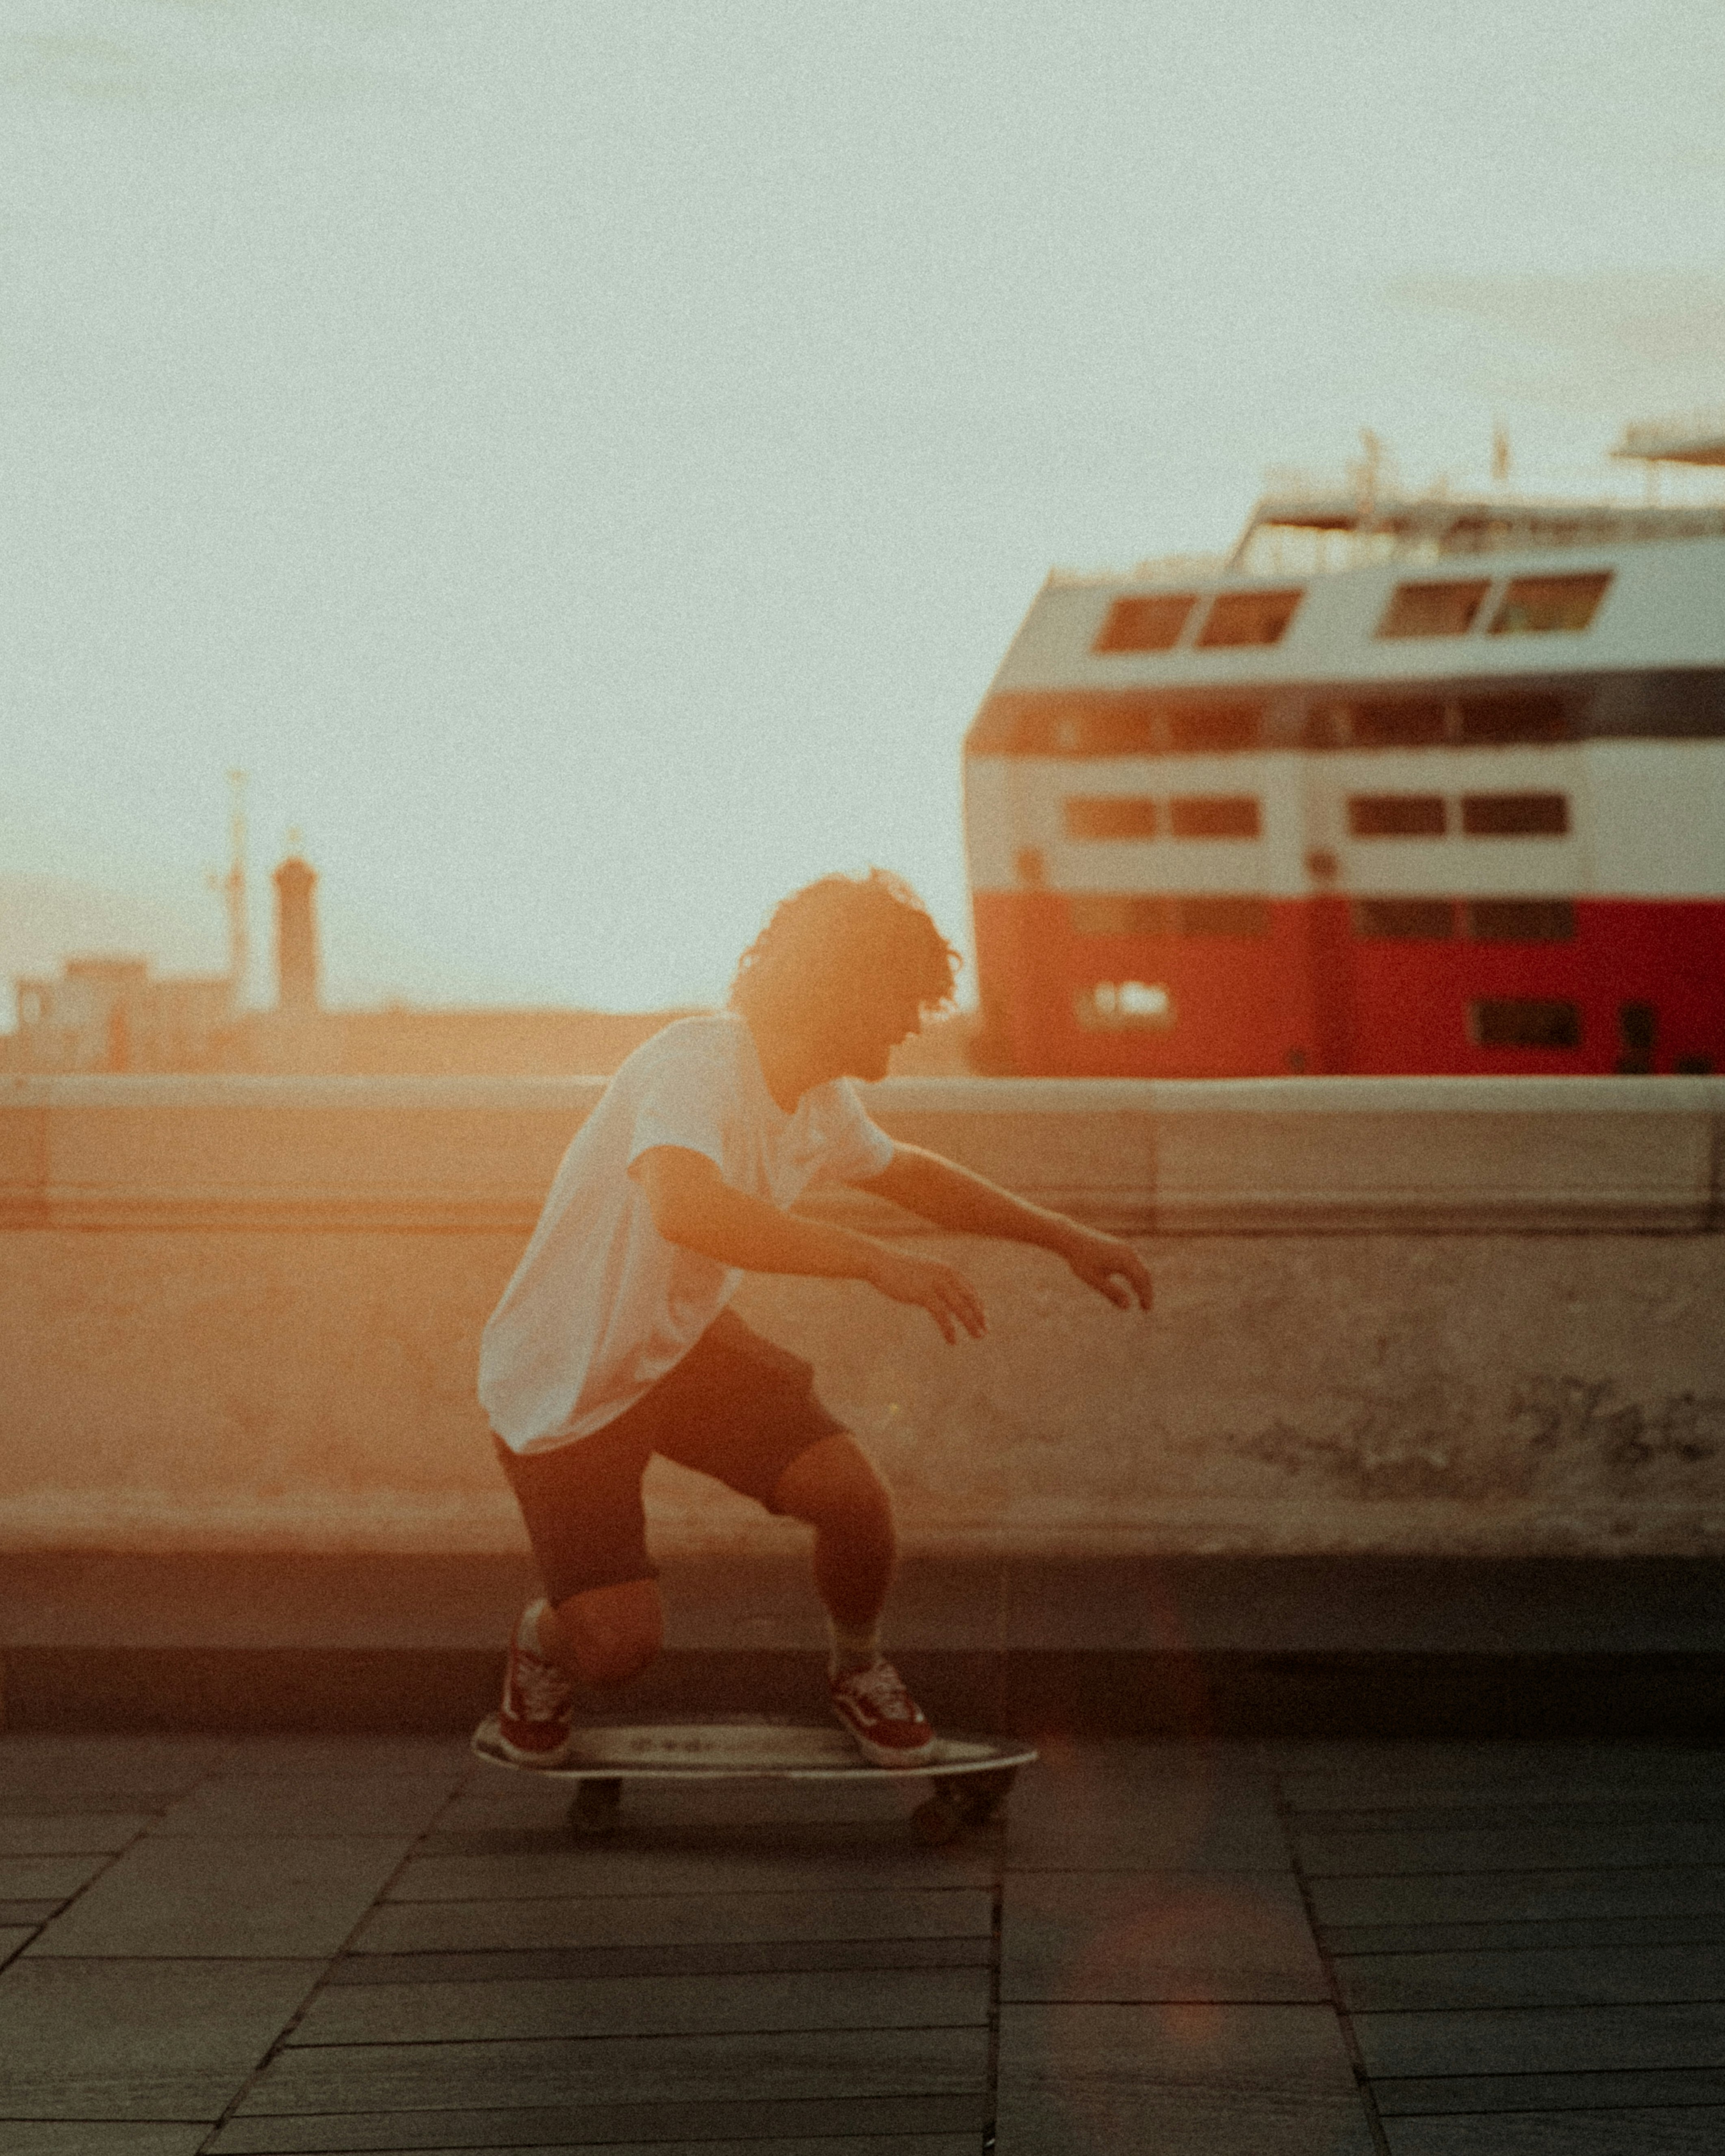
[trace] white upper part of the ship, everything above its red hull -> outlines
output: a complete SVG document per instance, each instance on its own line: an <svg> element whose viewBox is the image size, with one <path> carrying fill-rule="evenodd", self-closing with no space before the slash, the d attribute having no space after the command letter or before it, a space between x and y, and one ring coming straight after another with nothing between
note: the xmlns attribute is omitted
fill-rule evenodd
<svg viewBox="0 0 1725 2156"><path fill-rule="evenodd" d="M966 750L977 893L1725 895L1725 502L1272 496L1050 576Z"/></svg>

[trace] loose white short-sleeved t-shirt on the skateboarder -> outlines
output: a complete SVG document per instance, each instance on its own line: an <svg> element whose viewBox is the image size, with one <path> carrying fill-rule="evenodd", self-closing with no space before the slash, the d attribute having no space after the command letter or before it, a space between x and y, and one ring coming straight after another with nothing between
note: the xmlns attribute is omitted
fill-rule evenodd
<svg viewBox="0 0 1725 2156"><path fill-rule="evenodd" d="M602 1429L681 1360L744 1274L666 1242L632 1162L705 1153L735 1190L794 1205L815 1181L882 1175L893 1141L847 1078L785 1115L742 1018L679 1018L623 1063L556 1171L479 1348L479 1399L518 1453Z"/></svg>

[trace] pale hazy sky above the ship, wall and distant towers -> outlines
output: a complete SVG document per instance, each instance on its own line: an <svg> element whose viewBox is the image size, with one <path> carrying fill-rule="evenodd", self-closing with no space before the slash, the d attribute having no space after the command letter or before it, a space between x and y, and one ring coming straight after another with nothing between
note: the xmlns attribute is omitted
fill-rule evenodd
<svg viewBox="0 0 1725 2156"><path fill-rule="evenodd" d="M1719 0L0 24L0 895L170 966L231 765L336 1000L712 1000L871 860L968 938L1052 563L1225 545L1361 427L1596 492L1725 405Z"/></svg>

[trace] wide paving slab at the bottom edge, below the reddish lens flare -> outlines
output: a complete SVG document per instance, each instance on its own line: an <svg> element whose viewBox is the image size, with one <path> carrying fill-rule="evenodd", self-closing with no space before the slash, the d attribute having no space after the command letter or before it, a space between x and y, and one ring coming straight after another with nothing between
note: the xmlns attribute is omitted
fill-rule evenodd
<svg viewBox="0 0 1725 2156"><path fill-rule="evenodd" d="M1003 2007L1000 2156L1371 2156L1328 2007Z"/></svg>

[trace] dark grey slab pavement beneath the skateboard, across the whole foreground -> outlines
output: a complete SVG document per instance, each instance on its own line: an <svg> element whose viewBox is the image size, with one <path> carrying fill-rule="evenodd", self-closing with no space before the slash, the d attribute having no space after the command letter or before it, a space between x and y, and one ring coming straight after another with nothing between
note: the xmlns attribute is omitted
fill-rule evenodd
<svg viewBox="0 0 1725 2156"><path fill-rule="evenodd" d="M1050 1744L563 1789L446 1738L0 1738L0 2152L1656 2156L1725 2141L1725 1753Z"/></svg>

